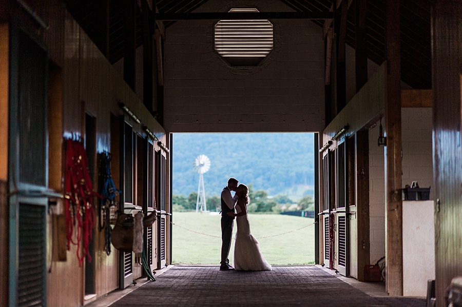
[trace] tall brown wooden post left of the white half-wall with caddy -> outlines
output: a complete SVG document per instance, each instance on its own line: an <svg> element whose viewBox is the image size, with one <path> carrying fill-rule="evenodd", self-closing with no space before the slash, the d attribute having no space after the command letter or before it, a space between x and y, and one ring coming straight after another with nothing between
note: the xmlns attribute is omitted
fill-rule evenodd
<svg viewBox="0 0 462 307"><path fill-rule="evenodd" d="M385 259L387 291L402 296L401 200L401 53L399 0L388 0L385 10L387 101L385 106Z"/></svg>

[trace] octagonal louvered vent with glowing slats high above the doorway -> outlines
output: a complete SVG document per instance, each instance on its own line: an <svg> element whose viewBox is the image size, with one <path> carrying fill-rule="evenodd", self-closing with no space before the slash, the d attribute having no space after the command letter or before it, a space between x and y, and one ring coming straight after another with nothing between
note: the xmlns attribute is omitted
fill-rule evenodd
<svg viewBox="0 0 462 307"><path fill-rule="evenodd" d="M258 12L230 9L229 12ZM215 50L233 66L256 66L273 50L273 24L268 20L221 20L215 25Z"/></svg>

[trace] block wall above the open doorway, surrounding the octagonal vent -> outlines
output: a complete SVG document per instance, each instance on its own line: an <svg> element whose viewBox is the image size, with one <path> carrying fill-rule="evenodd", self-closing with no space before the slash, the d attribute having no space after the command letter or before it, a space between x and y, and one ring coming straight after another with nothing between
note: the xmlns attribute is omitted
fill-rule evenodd
<svg viewBox="0 0 462 307"><path fill-rule="evenodd" d="M196 12L233 7L293 11L278 0L209 1ZM166 30L164 123L168 132L313 132L324 129L324 42L311 21L279 19L274 52L239 70L215 52L216 21L180 21Z"/></svg>

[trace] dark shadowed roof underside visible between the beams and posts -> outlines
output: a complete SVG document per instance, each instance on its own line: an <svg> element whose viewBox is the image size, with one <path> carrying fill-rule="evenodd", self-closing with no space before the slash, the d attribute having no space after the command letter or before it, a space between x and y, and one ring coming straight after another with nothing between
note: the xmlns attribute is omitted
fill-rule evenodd
<svg viewBox="0 0 462 307"><path fill-rule="evenodd" d="M67 9L86 31L94 38L99 24L95 9L100 0L66 0ZM124 0L109 1L109 50L111 63L124 56ZM194 11L207 0L159 0L156 5L160 13L187 13ZM281 0L299 12L329 12L329 0ZM431 88L431 42L430 10L431 0L401 0L401 79L415 89ZM368 57L380 65L385 56L384 45L385 0L369 0L367 12ZM320 27L323 21L313 21ZM175 22L165 22L167 28ZM143 44L142 16L137 9L137 47ZM204 33L205 34L205 33ZM354 3L348 11L346 42L355 47Z"/></svg>

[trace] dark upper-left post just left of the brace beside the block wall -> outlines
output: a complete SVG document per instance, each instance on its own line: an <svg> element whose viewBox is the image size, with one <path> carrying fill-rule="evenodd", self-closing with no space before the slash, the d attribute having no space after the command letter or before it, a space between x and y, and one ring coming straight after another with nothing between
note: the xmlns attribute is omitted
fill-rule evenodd
<svg viewBox="0 0 462 307"><path fill-rule="evenodd" d="M147 0L141 0L143 17L143 104L152 112L152 32L149 23L151 11Z"/></svg>

